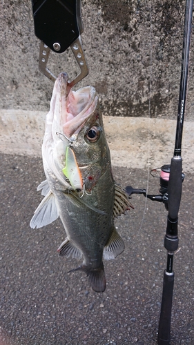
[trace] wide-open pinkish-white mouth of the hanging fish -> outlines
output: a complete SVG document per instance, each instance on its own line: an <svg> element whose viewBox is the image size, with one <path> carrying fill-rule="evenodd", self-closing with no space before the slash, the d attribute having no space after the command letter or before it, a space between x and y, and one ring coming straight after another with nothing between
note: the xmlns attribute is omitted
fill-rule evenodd
<svg viewBox="0 0 194 345"><path fill-rule="evenodd" d="M86 120L93 114L97 106L98 97L93 86L86 86L72 91L68 83L68 75L62 72L55 81L55 88L59 95L60 127L64 135L70 138L77 134Z"/></svg>

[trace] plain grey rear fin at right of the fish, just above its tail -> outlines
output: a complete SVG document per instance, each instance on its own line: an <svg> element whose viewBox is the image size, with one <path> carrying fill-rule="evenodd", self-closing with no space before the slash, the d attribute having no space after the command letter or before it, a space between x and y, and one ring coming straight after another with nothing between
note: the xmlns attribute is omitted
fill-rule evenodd
<svg viewBox="0 0 194 345"><path fill-rule="evenodd" d="M114 228L113 234L110 237L108 244L106 244L106 246L104 247L103 257L106 260L115 259L117 255L121 254L124 251L124 248L124 241Z"/></svg>

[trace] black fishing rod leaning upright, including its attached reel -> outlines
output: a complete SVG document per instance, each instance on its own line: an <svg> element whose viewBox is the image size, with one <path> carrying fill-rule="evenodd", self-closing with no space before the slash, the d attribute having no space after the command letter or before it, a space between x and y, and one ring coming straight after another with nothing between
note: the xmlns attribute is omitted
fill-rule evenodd
<svg viewBox="0 0 194 345"><path fill-rule="evenodd" d="M171 342L171 310L173 303L173 286L175 273L173 272L173 256L178 248L178 213L182 196L182 131L184 124L184 112L186 107L186 91L188 81L188 62L191 41L191 26L193 14L193 0L186 0L184 17L184 35L182 48L182 69L180 77L180 97L177 112L177 129L175 137L174 155L171 165L165 165L160 173L160 195L147 195L145 189L134 189L126 187L128 195L143 194L148 199L163 202L168 210L166 235L164 237L164 248L167 250L167 264L164 270L162 304L159 317L158 345L168 345ZM153 170L152 170L153 171Z"/></svg>

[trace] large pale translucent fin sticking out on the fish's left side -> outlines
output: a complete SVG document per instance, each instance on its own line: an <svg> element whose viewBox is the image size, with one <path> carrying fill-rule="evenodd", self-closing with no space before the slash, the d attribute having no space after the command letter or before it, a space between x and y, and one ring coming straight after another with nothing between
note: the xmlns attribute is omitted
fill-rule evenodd
<svg viewBox="0 0 194 345"><path fill-rule="evenodd" d="M55 197L52 192L49 191L35 210L35 214L30 221L30 227L33 229L35 227L41 228L42 226L52 223L52 221L55 221L58 217L59 211L57 209Z"/></svg>

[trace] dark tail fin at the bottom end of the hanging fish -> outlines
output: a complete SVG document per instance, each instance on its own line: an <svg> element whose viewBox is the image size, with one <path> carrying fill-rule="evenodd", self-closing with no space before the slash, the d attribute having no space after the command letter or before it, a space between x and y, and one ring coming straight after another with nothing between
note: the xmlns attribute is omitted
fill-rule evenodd
<svg viewBox="0 0 194 345"><path fill-rule="evenodd" d="M99 268L88 268L86 266L79 266L75 268L74 270L70 270L70 272L75 272L75 270L84 270L86 272L86 275L93 288L93 290L96 293L104 293L104 290L106 289L106 277L104 273L104 264L101 264L101 267Z"/></svg>

